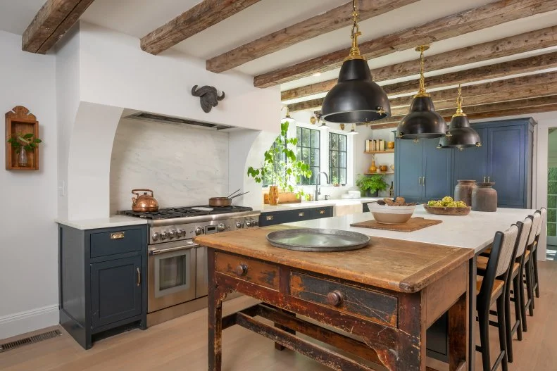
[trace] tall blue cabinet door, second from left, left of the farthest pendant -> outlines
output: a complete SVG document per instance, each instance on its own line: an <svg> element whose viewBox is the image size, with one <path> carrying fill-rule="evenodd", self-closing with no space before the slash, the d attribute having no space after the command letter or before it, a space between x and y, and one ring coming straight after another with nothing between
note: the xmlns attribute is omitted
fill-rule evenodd
<svg viewBox="0 0 557 371"><path fill-rule="evenodd" d="M437 149L439 139L423 139L423 200L442 199L453 193L451 187L451 149Z"/></svg>

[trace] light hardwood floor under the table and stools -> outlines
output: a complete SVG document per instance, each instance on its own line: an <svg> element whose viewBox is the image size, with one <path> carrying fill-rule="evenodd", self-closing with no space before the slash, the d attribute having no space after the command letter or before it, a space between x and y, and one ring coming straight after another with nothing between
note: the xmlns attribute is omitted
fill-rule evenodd
<svg viewBox="0 0 557 371"><path fill-rule="evenodd" d="M524 340L513 343L515 362L509 364L511 371L554 370L557 365L557 316L553 315L557 307L557 262L540 262L539 270L541 297L535 302L535 316L527 318L528 332L524 334ZM251 303L253 299L244 297L228 301L225 314ZM499 348L496 328L492 327L490 335L495 356ZM26 336L28 334L22 337ZM207 370L206 338L206 310L200 310L146 331L133 329L97 341L89 351L83 350L64 332L55 339L0 353L0 370L203 371ZM480 353L476 356L476 370L481 370ZM430 360L429 365L439 371L448 369L444 363L435 360ZM273 341L234 326L226 329L223 336L223 371L236 370L330 369L292 351L275 351Z"/></svg>

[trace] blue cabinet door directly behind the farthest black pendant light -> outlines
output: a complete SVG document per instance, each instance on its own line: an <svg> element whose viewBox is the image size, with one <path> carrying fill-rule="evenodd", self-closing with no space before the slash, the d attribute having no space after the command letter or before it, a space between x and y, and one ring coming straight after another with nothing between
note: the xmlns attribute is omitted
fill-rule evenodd
<svg viewBox="0 0 557 371"><path fill-rule="evenodd" d="M480 183L487 177L487 129L475 129L482 140L481 147L454 150L453 189L458 180L475 180Z"/></svg>

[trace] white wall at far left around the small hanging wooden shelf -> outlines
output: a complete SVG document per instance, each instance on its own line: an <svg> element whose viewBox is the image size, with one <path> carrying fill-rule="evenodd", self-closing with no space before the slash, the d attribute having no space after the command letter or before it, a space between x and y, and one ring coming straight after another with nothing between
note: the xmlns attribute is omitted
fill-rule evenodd
<svg viewBox="0 0 557 371"><path fill-rule="evenodd" d="M0 339L58 323L56 60L21 51L0 31L0 109L25 106L39 120L40 170L4 170L0 151ZM4 136L2 136L4 140ZM2 145L4 146L4 144Z"/></svg>

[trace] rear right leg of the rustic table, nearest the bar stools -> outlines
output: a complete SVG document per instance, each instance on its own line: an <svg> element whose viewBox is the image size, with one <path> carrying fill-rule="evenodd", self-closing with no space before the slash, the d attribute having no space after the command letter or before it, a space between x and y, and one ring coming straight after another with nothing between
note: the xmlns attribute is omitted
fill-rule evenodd
<svg viewBox="0 0 557 371"><path fill-rule="evenodd" d="M465 334L465 336L463 336ZM468 351L468 293L449 309L449 370L466 361Z"/></svg>

